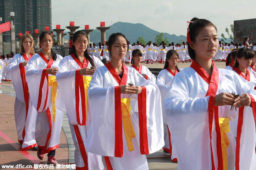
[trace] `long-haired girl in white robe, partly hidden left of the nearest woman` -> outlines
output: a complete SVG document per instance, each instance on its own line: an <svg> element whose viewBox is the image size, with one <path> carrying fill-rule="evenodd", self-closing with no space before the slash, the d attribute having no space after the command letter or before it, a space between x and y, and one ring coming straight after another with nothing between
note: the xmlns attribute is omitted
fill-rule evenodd
<svg viewBox="0 0 256 170"><path fill-rule="evenodd" d="M158 86L161 94L162 112L164 120L164 154L170 155L173 162L177 162L177 154L173 145L173 140L168 129L167 122L164 118L164 98L171 86L172 79L182 69L177 67L179 54L176 50L169 50L166 54L166 62L164 69L160 71L156 79L156 85Z"/></svg>

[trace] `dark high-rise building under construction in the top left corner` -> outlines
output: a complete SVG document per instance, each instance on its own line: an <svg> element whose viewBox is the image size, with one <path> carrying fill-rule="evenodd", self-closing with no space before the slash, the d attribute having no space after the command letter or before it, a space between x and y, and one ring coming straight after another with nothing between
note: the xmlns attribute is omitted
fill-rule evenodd
<svg viewBox="0 0 256 170"><path fill-rule="evenodd" d="M51 30L51 0L0 0L0 17L3 23L10 21L10 12L15 13L15 35ZM10 42L10 31L3 33L3 41Z"/></svg>

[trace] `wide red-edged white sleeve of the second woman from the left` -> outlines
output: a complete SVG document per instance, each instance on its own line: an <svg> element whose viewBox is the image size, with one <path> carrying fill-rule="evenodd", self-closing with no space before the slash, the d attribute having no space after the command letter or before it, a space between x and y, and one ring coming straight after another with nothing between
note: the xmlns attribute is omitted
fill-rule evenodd
<svg viewBox="0 0 256 170"><path fill-rule="evenodd" d="M48 108L48 101L50 101L47 95L48 81L46 78L46 67L45 69L39 69L39 63L36 61L36 55L28 61L26 79L32 104L38 112L42 112Z"/></svg>

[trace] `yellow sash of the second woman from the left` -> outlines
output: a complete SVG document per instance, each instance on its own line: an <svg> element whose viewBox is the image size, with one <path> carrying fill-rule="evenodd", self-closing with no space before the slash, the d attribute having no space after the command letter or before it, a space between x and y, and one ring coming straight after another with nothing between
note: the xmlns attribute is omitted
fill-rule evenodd
<svg viewBox="0 0 256 170"><path fill-rule="evenodd" d="M57 96L57 81L56 81L56 76L49 76L48 77L48 86L51 86L51 103L52 103L52 121L55 122L55 112L56 112L56 107L55 107L55 99Z"/></svg>

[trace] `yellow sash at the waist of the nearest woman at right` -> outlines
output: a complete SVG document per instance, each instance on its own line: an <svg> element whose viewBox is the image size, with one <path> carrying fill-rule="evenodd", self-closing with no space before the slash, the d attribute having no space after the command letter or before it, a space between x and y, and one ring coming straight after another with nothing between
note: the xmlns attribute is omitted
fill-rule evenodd
<svg viewBox="0 0 256 170"><path fill-rule="evenodd" d="M228 166L227 147L229 145L228 136L226 133L230 132L229 118L219 118L219 124L221 134L223 169L226 170Z"/></svg>

